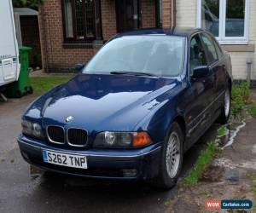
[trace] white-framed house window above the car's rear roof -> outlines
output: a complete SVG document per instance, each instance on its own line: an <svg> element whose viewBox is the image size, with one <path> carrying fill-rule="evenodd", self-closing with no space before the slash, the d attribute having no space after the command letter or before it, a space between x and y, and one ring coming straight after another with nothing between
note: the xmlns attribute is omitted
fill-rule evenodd
<svg viewBox="0 0 256 213"><path fill-rule="evenodd" d="M249 0L198 0L197 26L220 43L247 43Z"/></svg>

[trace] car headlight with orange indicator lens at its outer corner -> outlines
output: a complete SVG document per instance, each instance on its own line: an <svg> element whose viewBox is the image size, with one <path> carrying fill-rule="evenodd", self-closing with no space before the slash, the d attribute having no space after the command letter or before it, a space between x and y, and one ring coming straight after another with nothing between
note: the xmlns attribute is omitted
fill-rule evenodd
<svg viewBox="0 0 256 213"><path fill-rule="evenodd" d="M93 147L144 147L152 141L147 132L101 132Z"/></svg>

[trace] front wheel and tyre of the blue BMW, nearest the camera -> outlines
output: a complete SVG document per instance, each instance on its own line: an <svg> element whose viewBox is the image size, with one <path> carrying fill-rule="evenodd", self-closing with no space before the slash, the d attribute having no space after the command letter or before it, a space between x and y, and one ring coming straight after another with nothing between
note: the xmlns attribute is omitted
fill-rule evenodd
<svg viewBox="0 0 256 213"><path fill-rule="evenodd" d="M176 142L176 156L170 155L173 152L173 140ZM160 160L160 171L154 180L154 186L163 189L170 189L175 186L183 164L183 141L184 135L177 122L172 123L166 136ZM175 159L173 159L175 158ZM175 160L175 161L173 161ZM171 163L173 163L171 166Z"/></svg>

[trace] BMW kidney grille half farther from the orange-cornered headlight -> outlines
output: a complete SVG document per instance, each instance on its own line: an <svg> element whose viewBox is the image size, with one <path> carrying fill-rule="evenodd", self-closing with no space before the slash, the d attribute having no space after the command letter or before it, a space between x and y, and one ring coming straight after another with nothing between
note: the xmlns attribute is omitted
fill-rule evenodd
<svg viewBox="0 0 256 213"><path fill-rule="evenodd" d="M48 126L47 135L50 142L65 143L65 131L60 126Z"/></svg>

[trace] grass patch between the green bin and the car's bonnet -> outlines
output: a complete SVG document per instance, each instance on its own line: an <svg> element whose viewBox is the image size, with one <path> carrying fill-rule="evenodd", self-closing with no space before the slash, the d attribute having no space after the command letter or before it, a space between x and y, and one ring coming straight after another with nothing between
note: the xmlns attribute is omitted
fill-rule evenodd
<svg viewBox="0 0 256 213"><path fill-rule="evenodd" d="M31 83L34 90L34 94L42 94L55 86L66 83L69 79L73 78L73 75L67 76L47 76L47 77L32 77Z"/></svg>

